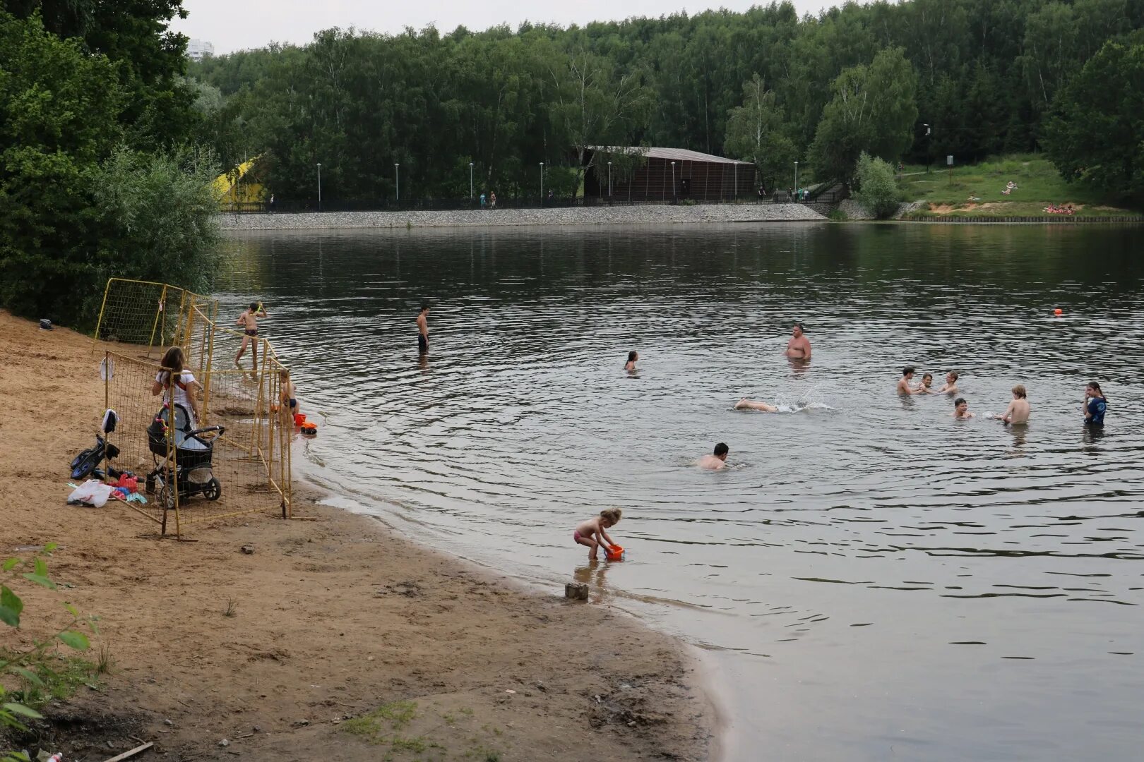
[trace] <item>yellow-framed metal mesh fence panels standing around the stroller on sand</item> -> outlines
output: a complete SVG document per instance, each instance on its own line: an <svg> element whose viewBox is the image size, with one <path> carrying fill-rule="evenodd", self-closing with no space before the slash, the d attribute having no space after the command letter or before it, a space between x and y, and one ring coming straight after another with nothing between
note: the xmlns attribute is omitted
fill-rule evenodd
<svg viewBox="0 0 1144 762"><path fill-rule="evenodd" d="M108 438L119 448L113 465L146 487L146 503L129 505L164 535L248 513L291 518L294 423L279 406L289 374L269 342L219 327L217 313L214 299L162 283L113 279L105 292L96 338L119 344L104 348L103 364L106 407L119 418ZM167 346L183 350L193 376L181 377L183 394L152 356Z"/></svg>

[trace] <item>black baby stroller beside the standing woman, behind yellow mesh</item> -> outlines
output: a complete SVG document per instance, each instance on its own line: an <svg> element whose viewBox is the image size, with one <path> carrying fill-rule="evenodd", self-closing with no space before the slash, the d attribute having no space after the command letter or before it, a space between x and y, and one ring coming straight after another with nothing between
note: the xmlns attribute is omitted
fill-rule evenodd
<svg viewBox="0 0 1144 762"><path fill-rule="evenodd" d="M223 434L223 426L207 426L191 431L190 416L183 406L175 406L175 451L174 464L167 457L167 427L170 425L170 408L164 406L151 425L146 427L148 449L154 460L154 471L146 475L146 491L159 490L159 500L165 508L175 507L175 492L180 502L201 495L208 500L222 496L222 484L210 471L214 442ZM160 462L161 459L161 462ZM172 478L174 473L174 478Z"/></svg>

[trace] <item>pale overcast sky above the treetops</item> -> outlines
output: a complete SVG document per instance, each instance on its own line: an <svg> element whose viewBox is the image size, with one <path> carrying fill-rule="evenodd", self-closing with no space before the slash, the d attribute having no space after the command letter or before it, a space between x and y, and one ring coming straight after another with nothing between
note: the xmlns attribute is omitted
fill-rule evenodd
<svg viewBox="0 0 1144 762"><path fill-rule="evenodd" d="M794 0L799 14L817 14L842 0ZM406 26L434 24L442 32L459 25L478 31L523 21L585 24L630 16L662 16L708 8L746 10L770 0L573 0L572 2L521 2L519 0L183 0L188 17L172 29L189 38L212 42L215 54L261 48L268 42L309 42L318 30L356 26L375 32L400 32Z"/></svg>

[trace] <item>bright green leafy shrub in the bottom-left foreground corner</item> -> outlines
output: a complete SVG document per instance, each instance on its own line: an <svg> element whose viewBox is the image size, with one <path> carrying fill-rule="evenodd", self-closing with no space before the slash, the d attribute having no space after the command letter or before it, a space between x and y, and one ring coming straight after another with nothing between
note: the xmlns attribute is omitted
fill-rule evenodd
<svg viewBox="0 0 1144 762"><path fill-rule="evenodd" d="M46 561L56 547L58 546L55 543L49 543L30 559L8 559L0 569L14 585L31 583L48 589L57 589L56 583L48 576ZM61 683L67 682L67 673L74 667L73 659L58 652L59 644L73 651L86 651L90 648L90 642L80 628L98 634L96 617L82 617L72 604L65 602L63 605L71 615L71 621L66 627L55 631L47 637L33 639L31 645L24 649L0 648L0 677L14 676L21 685L18 690L7 691L3 684L0 684L0 728L26 730L25 721L41 719L40 713L35 711L37 706L51 698ZM23 599L7 584L0 584L0 623L19 628L23 616ZM64 666L61 666L61 663ZM7 752L0 756L0 762L16 761L27 762L27 756L22 752Z"/></svg>

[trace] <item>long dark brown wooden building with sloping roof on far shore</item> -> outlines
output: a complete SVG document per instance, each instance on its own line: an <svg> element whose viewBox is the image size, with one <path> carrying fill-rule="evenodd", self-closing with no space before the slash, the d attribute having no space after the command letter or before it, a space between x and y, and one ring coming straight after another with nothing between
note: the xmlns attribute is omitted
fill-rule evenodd
<svg viewBox="0 0 1144 762"><path fill-rule="evenodd" d="M607 154L643 154L644 161L630 177L613 174L611 192L607 179ZM598 154L598 155L597 155ZM585 198L611 198L617 203L693 201L730 201L753 196L757 192L755 165L734 161L709 153L685 149L604 147L595 146L585 154L585 163L596 160L594 171L585 174Z"/></svg>

